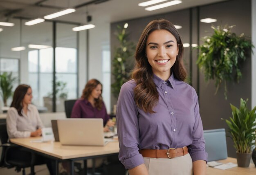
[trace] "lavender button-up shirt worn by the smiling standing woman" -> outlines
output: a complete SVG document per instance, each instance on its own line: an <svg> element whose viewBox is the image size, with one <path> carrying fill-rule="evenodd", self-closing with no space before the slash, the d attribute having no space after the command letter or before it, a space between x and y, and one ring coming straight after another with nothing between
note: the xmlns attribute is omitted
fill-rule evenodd
<svg viewBox="0 0 256 175"><path fill-rule="evenodd" d="M168 149L188 146L193 161L207 161L198 96L190 85L174 78L168 81L153 76L159 101L146 113L134 100L136 82L122 86L117 101L119 160L131 169L144 160L140 149Z"/></svg>

